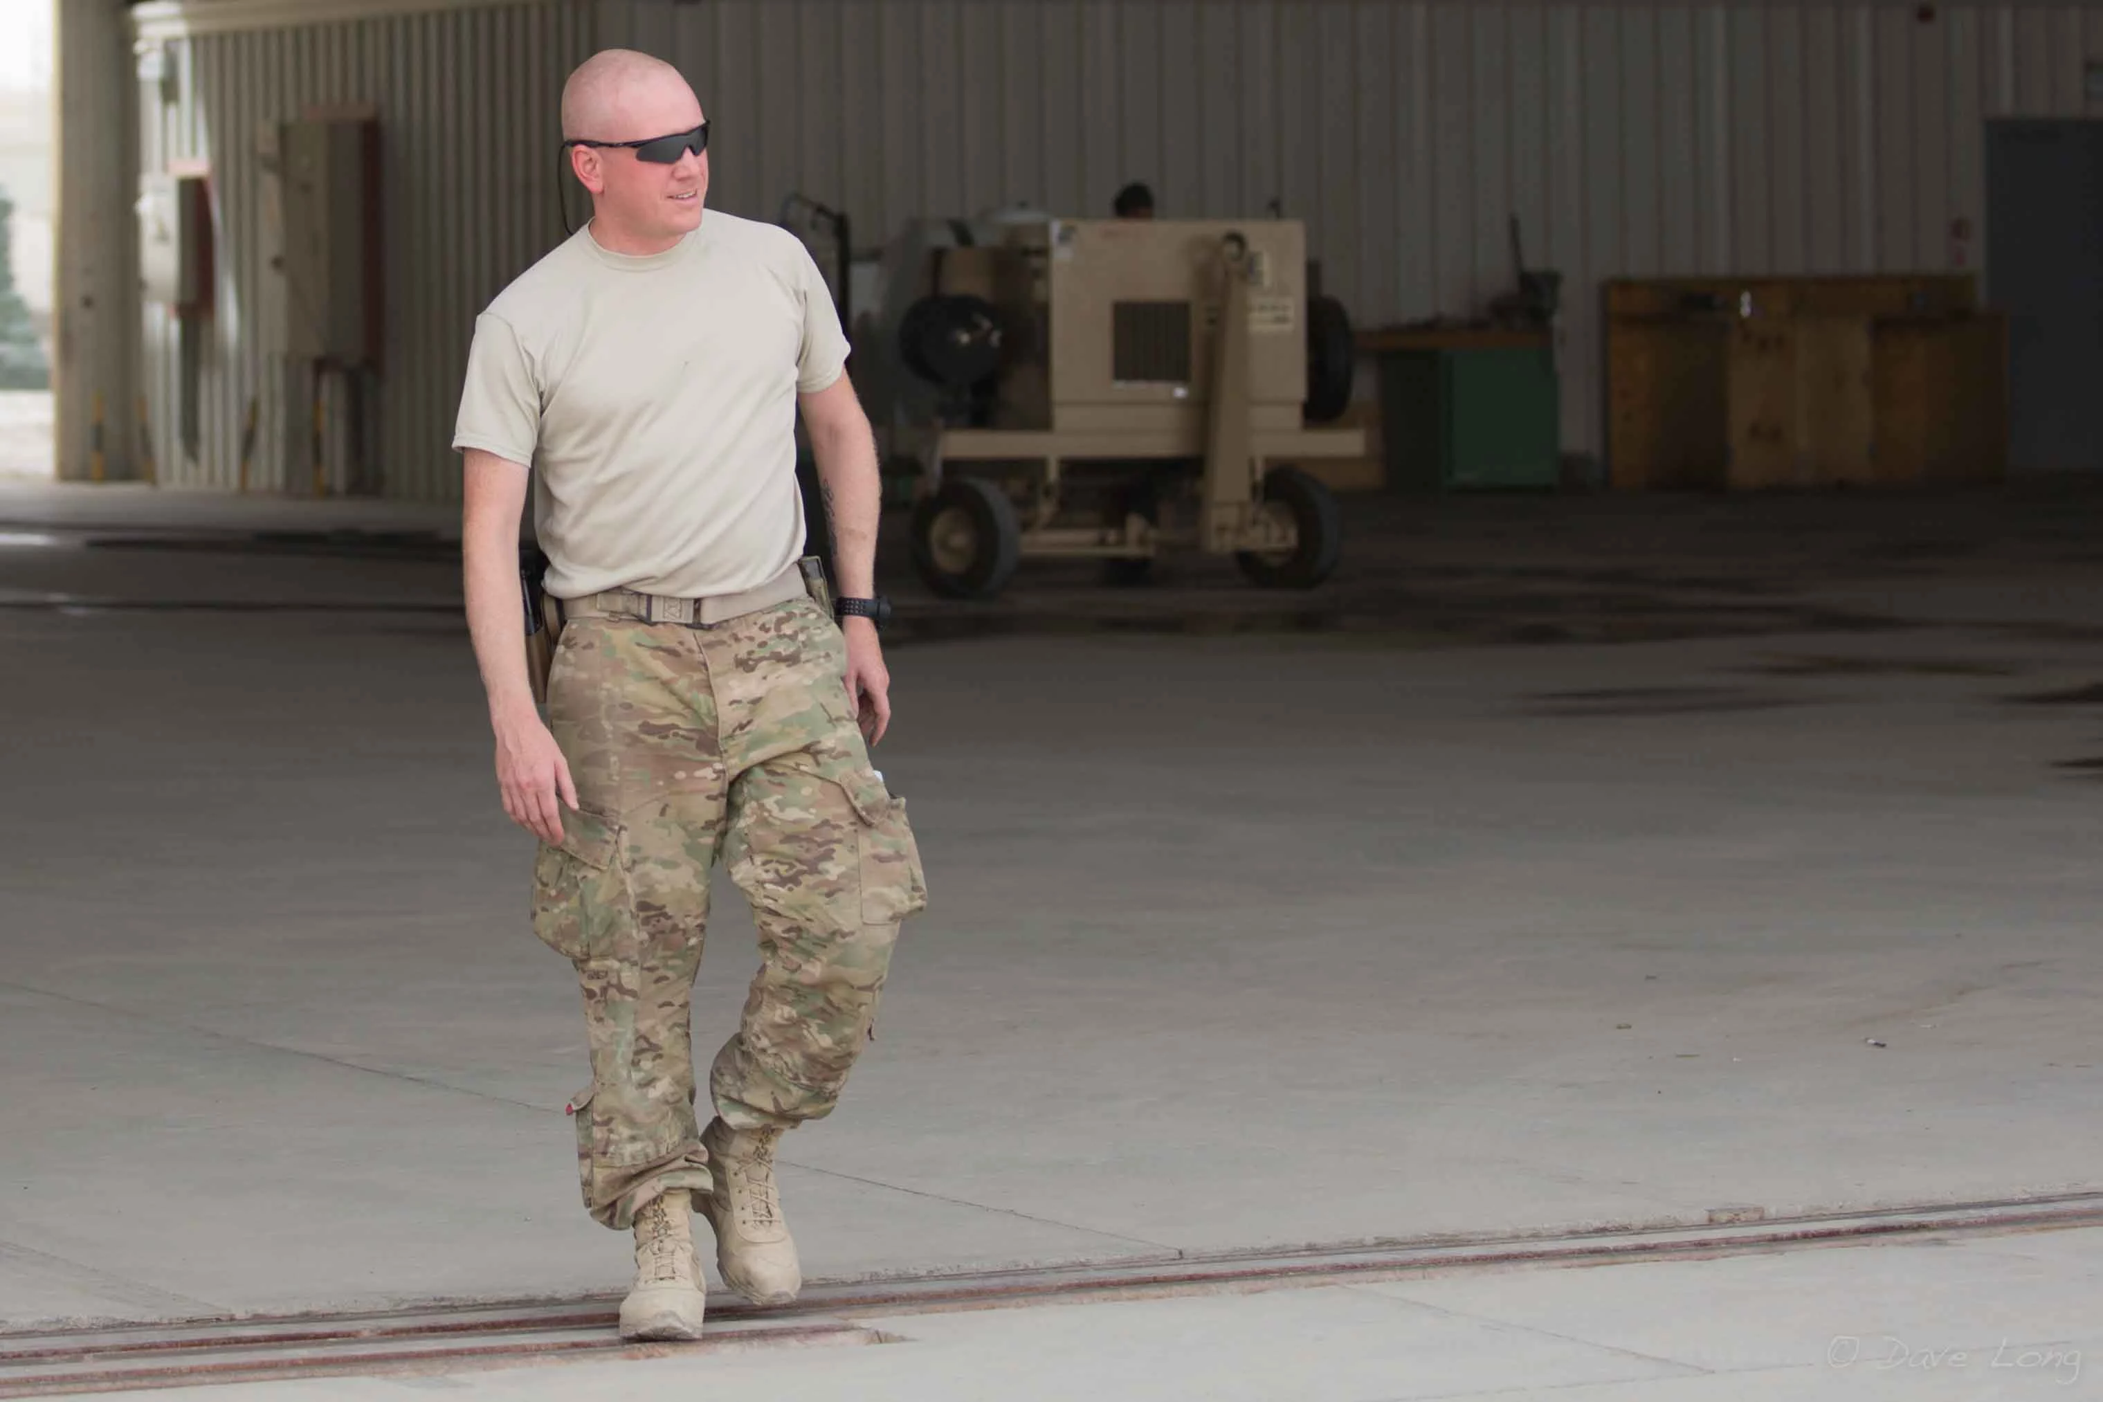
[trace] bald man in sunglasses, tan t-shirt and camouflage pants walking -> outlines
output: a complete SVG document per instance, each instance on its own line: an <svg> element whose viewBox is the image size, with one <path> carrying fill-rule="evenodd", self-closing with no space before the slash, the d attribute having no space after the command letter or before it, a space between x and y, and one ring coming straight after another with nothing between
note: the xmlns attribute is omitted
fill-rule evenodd
<svg viewBox="0 0 2103 1402"><path fill-rule="evenodd" d="M562 128L591 221L475 319L454 431L467 614L505 811L540 839L532 925L583 986L591 1087L570 1112L585 1209L635 1234L620 1333L696 1339L690 1211L732 1288L801 1288L774 1150L833 1110L927 891L869 763L890 723L881 481L824 280L795 235L705 212L709 124L671 65L595 55ZM833 616L797 568L799 410ZM519 637L528 488L566 616L547 723ZM700 1129L688 1007L717 858L761 967Z"/></svg>

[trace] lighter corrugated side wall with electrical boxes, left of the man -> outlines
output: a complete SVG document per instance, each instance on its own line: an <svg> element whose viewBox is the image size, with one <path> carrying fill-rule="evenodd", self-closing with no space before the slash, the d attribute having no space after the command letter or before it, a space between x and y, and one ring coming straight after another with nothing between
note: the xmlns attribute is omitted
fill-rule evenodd
<svg viewBox="0 0 2103 1402"><path fill-rule="evenodd" d="M383 128L385 366L372 465L402 498L458 496L448 452L475 311L562 240L555 107L591 53L591 11L507 4L353 23L202 34L170 42L177 101L143 101L143 168L212 166L217 301L183 328L145 307L145 383L160 479L233 488L250 397L259 406L252 490L305 490L309 406L284 366L284 288L267 267L259 130L309 105L374 103ZM185 399L193 404L185 444ZM332 469L341 465L332 435ZM341 481L341 473L339 473Z"/></svg>

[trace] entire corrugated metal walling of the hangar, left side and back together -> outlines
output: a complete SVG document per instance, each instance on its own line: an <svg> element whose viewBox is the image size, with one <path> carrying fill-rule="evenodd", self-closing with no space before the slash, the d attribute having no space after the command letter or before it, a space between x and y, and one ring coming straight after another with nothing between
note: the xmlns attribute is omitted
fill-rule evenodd
<svg viewBox="0 0 2103 1402"><path fill-rule="evenodd" d="M1308 221L1325 286L1371 326L1476 311L1512 277L1506 219L1518 214L1529 263L1565 275L1565 439L1596 450L1605 277L1983 265L1983 122L2086 116L2103 8L1922 13L1882 0L599 0L597 42L665 55L692 78L715 122L713 204L772 219L801 189L843 204L864 246L911 214L1012 200L1106 212L1127 179L1150 181L1165 214L1253 214L1277 198ZM519 4L181 46L185 99L160 116L149 162L200 151L212 132L246 149L240 132L305 101L383 105L397 494L454 490L444 444L471 311L559 233L540 141L589 38L566 4ZM227 149L221 172L221 221L252 240L252 160ZM231 481L246 395L269 378L233 351L259 280L238 248L233 263L193 471L217 483ZM166 401L166 328L151 345Z"/></svg>

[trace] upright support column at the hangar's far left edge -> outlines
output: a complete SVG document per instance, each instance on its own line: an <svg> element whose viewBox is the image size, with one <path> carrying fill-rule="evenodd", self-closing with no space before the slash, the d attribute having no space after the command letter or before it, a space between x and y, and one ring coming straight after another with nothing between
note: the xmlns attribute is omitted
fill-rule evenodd
<svg viewBox="0 0 2103 1402"><path fill-rule="evenodd" d="M57 0L59 477L139 473L139 86L122 0Z"/></svg>

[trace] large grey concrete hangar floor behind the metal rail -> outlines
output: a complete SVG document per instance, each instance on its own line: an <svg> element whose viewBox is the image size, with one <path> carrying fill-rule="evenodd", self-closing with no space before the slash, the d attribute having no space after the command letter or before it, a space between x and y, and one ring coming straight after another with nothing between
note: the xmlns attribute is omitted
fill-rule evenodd
<svg viewBox="0 0 2103 1402"><path fill-rule="evenodd" d="M2099 519L1354 502L1306 599L919 607L934 904L784 1150L808 1274L2097 1188ZM456 568L196 549L286 521L442 513L0 490L0 1322L625 1278Z"/></svg>

